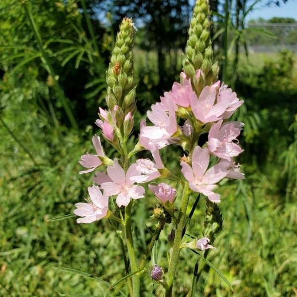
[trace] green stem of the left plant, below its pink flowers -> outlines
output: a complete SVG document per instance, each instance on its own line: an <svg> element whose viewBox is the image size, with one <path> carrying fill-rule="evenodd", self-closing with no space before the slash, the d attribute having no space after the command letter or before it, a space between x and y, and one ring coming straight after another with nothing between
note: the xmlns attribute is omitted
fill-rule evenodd
<svg viewBox="0 0 297 297"><path fill-rule="evenodd" d="M132 201L125 207L125 234L126 234L128 255L129 255L129 260L131 265L131 272L134 273L139 269L137 266L134 247L133 247L132 228L131 228L131 207L132 207ZM133 297L139 297L140 296L139 275L134 274L132 276L132 285L133 285Z"/></svg>

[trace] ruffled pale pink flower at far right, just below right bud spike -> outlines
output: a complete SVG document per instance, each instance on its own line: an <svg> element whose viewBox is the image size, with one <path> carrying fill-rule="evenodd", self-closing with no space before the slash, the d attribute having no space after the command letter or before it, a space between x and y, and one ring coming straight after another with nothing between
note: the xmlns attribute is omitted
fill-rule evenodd
<svg viewBox="0 0 297 297"><path fill-rule="evenodd" d="M228 88L227 85L223 84L219 90L217 102L228 103L228 107L223 113L223 119L229 119L230 116L235 112L235 110L244 103L244 100L239 100L236 93L232 92L231 88Z"/></svg>

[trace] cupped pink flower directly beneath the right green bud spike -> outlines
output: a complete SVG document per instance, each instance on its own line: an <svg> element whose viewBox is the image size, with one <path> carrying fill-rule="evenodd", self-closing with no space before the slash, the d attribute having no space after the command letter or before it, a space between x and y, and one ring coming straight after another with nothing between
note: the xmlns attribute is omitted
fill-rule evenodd
<svg viewBox="0 0 297 297"><path fill-rule="evenodd" d="M202 123L216 122L222 118L222 114L228 107L228 102L215 102L220 81L214 83L211 87L203 88L199 99L196 94L190 98L190 104L195 117Z"/></svg>

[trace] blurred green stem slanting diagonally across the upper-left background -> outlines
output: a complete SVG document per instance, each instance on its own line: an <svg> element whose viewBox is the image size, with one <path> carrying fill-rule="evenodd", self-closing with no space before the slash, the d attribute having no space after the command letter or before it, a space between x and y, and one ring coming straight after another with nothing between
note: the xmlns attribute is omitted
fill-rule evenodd
<svg viewBox="0 0 297 297"><path fill-rule="evenodd" d="M68 99L65 97L65 94L64 94L62 88L60 87L60 85L59 85L59 83L58 83L58 81L56 79L57 76L55 74L55 71L54 71L51 63L50 63L49 56L48 56L47 52L44 50L44 45L42 43L42 39L41 39L39 30L38 30L38 27L37 27L37 25L35 23L35 20L33 18L33 15L31 13L30 9L28 8L26 1L23 2L23 5L24 5L26 16L27 16L27 18L29 20L30 26L31 26L31 28L33 30L33 33L34 33L34 36L36 38L39 50L40 50L40 52L42 54L42 59L41 60L45 64L49 75L54 80L54 88L56 90L57 95L61 99L61 103L62 103L62 105L64 107L64 110L65 110L65 112L67 114L67 117L68 117L72 127L75 128L76 130L78 130L78 125L77 125L75 117L74 117L74 115L72 113L72 110L71 110L71 108L70 108L70 106L68 104Z"/></svg>

